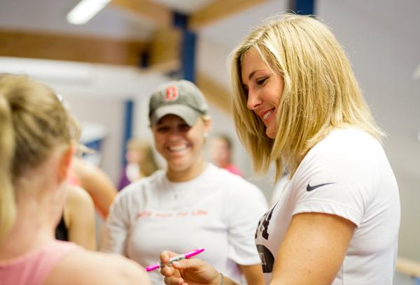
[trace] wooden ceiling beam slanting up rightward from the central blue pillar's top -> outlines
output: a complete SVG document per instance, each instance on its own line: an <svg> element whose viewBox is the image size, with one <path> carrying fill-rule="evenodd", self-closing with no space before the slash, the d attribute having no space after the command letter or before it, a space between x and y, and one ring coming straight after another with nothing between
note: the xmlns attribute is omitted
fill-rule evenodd
<svg viewBox="0 0 420 285"><path fill-rule="evenodd" d="M190 30L200 29L207 24L211 24L235 13L252 8L260 3L269 0L216 0L209 3L202 10L190 15L188 28Z"/></svg>

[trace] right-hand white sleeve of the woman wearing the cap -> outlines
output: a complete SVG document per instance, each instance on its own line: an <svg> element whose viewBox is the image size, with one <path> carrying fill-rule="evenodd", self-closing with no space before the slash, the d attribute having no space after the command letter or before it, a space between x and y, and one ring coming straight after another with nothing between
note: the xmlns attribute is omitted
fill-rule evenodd
<svg viewBox="0 0 420 285"><path fill-rule="evenodd" d="M260 264L254 237L258 221L267 210L267 200L260 189L248 182L237 187L237 191L230 191L225 206L228 210L228 256L240 265Z"/></svg>

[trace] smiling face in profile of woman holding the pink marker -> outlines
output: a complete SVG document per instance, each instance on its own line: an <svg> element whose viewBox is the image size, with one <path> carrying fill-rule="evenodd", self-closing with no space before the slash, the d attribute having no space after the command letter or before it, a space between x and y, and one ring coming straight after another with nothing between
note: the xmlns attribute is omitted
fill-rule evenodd
<svg viewBox="0 0 420 285"><path fill-rule="evenodd" d="M265 133L276 138L276 114L283 93L283 78L274 73L255 50L248 50L241 63L241 79L248 94L247 106L265 124Z"/></svg>

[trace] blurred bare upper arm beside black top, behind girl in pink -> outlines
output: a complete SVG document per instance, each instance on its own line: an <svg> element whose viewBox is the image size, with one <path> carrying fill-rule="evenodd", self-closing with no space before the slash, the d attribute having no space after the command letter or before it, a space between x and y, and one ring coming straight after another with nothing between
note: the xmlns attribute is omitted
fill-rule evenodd
<svg viewBox="0 0 420 285"><path fill-rule="evenodd" d="M64 223L69 231L69 242L85 249L96 250L94 205L85 190L70 186L64 207Z"/></svg>

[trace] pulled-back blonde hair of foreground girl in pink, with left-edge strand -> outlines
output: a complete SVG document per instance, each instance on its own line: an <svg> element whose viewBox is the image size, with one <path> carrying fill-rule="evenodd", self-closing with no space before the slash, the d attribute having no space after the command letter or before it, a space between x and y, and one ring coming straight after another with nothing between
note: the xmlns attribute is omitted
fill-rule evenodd
<svg viewBox="0 0 420 285"><path fill-rule="evenodd" d="M0 240L15 222L20 175L77 136L76 121L51 89L23 76L0 75Z"/></svg>

